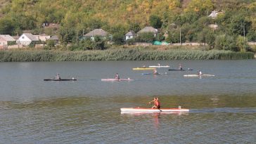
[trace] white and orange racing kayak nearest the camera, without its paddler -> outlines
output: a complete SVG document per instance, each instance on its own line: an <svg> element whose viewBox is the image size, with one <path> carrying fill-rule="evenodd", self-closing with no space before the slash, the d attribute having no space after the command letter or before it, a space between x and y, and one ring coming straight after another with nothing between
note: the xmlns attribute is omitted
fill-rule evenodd
<svg viewBox="0 0 256 144"><path fill-rule="evenodd" d="M189 109L185 108L143 108L143 107L129 107L129 108L120 108L121 112L189 112Z"/></svg>

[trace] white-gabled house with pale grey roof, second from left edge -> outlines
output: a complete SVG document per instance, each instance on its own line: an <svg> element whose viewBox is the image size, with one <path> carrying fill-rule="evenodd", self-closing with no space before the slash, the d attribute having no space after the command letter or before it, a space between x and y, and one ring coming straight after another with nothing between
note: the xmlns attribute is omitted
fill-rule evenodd
<svg viewBox="0 0 256 144"><path fill-rule="evenodd" d="M19 37L19 39L16 42L17 42L17 44L22 44L22 45L28 46L33 41L39 41L39 38L34 37L34 35L31 33L24 33Z"/></svg>

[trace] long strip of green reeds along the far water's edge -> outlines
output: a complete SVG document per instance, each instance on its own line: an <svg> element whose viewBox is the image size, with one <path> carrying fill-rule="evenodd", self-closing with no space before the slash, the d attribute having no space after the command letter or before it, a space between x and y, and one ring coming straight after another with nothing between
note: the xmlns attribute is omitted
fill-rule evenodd
<svg viewBox="0 0 256 144"><path fill-rule="evenodd" d="M234 60L253 59L254 53L202 50L146 50L121 48L105 51L0 51L0 62L93 61L93 60Z"/></svg>

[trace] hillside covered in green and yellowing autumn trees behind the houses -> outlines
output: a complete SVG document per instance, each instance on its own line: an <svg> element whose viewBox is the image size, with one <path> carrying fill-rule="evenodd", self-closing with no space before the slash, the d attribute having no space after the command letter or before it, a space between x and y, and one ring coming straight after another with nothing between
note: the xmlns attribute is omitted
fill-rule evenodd
<svg viewBox="0 0 256 144"><path fill-rule="evenodd" d="M215 19L207 17L214 10L224 13ZM0 34L22 34L23 30L39 34L44 32L41 25L51 22L60 25L60 40L66 42L95 28L125 34L149 25L162 34L168 32L168 37L158 40L172 43L179 41L180 30L182 41L212 47L222 38L229 42L242 39L243 34L249 41L256 40L255 0L12 0L0 13ZM160 25L154 25L154 20ZM213 31L210 24L218 25L218 29ZM61 39L63 34L66 39Z"/></svg>

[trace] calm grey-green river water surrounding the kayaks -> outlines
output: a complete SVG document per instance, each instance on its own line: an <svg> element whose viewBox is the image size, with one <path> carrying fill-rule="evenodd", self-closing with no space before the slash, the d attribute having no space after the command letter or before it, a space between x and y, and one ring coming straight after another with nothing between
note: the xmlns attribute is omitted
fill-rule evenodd
<svg viewBox="0 0 256 144"><path fill-rule="evenodd" d="M132 70L158 63L193 70ZM184 77L197 70L215 77ZM57 72L77 81L43 81ZM101 81L115 72L134 81ZM256 60L0 63L0 76L0 143L256 142ZM155 96L190 112L120 112Z"/></svg>

